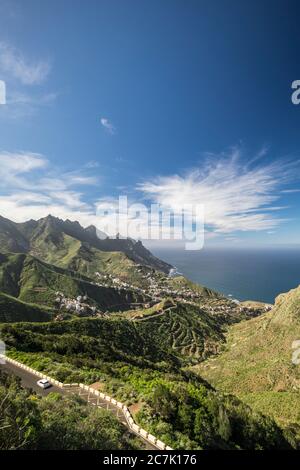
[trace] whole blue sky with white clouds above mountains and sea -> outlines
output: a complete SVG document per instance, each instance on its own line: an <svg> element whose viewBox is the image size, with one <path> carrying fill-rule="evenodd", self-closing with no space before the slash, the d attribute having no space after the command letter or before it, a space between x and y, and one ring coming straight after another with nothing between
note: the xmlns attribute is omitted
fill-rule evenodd
<svg viewBox="0 0 300 470"><path fill-rule="evenodd" d="M206 207L208 243L299 243L293 1L0 0L0 213Z"/></svg>

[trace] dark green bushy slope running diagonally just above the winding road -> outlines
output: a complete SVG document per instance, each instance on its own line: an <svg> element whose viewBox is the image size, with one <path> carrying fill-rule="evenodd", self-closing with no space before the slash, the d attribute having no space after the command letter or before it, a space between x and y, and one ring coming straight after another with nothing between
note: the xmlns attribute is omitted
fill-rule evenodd
<svg viewBox="0 0 300 470"><path fill-rule="evenodd" d="M176 449L289 449L289 434L185 371L146 322L77 319L2 326L10 355L63 381L97 382L134 404L137 421ZM18 348L18 350L14 349Z"/></svg>

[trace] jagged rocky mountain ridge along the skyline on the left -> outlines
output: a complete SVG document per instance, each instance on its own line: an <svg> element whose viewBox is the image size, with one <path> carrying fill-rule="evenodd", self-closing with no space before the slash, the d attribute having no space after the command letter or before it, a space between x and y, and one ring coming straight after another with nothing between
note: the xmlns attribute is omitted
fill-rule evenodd
<svg viewBox="0 0 300 470"><path fill-rule="evenodd" d="M96 227L48 215L39 220L15 223L0 216L0 252L28 253L44 261L72 261L80 250L120 252L135 263L168 273L172 266L156 258L142 242L132 239L99 237Z"/></svg>

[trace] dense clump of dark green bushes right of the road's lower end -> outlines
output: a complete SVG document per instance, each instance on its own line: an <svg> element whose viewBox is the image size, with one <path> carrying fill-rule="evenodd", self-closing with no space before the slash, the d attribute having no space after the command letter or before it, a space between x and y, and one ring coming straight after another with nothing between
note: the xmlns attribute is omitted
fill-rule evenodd
<svg viewBox="0 0 300 470"><path fill-rule="evenodd" d="M291 448L272 419L253 412L235 397L223 397L204 385L157 384L138 418L175 448Z"/></svg>

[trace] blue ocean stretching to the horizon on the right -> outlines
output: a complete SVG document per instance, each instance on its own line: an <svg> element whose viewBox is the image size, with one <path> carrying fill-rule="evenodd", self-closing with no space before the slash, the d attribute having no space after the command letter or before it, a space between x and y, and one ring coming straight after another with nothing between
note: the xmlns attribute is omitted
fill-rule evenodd
<svg viewBox="0 0 300 470"><path fill-rule="evenodd" d="M151 251L192 281L238 300L274 303L300 284L300 248Z"/></svg>

